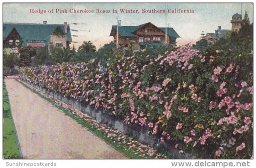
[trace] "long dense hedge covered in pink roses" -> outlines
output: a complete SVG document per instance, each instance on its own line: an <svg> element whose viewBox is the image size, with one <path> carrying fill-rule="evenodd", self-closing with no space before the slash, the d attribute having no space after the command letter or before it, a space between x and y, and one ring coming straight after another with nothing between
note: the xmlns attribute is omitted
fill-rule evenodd
<svg viewBox="0 0 256 168"><path fill-rule="evenodd" d="M252 70L244 68L247 55L229 57L183 46L153 59L140 53L117 55L106 65L92 60L26 67L20 78L148 127L180 154L250 158Z"/></svg>

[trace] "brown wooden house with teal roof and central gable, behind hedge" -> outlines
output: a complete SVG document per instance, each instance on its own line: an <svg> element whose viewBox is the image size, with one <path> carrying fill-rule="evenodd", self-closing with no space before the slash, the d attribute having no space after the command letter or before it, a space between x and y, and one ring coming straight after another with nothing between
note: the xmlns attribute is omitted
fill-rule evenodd
<svg viewBox="0 0 256 168"><path fill-rule="evenodd" d="M117 25L113 25L110 35L117 42ZM118 26L118 47L127 47L130 41L134 41L134 50L144 46L175 45L180 38L173 28L157 27L148 22L138 26Z"/></svg>

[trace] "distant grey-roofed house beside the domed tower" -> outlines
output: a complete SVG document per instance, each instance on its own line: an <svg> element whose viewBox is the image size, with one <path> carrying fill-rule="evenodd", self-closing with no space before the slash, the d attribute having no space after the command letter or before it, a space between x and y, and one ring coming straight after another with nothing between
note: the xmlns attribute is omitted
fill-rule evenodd
<svg viewBox="0 0 256 168"><path fill-rule="evenodd" d="M205 39L207 40L207 44L211 45L220 38L226 38L227 33L230 31L231 30L228 29L221 29L221 26L219 26L218 29L215 30L215 33L206 33Z"/></svg>

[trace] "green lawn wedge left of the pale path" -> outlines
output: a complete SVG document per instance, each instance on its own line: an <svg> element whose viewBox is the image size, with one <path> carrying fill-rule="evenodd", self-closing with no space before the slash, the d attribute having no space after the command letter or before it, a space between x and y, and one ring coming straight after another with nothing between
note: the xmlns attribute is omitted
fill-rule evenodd
<svg viewBox="0 0 256 168"><path fill-rule="evenodd" d="M4 159L22 158L5 83L3 83L3 101L3 157Z"/></svg>

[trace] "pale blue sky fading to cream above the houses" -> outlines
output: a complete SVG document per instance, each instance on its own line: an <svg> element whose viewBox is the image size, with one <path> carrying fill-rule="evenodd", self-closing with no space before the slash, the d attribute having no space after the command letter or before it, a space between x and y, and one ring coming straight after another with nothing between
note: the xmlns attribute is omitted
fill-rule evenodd
<svg viewBox="0 0 256 168"><path fill-rule="evenodd" d="M45 13L31 13L31 9L45 10ZM52 11L49 13L48 11ZM67 13L57 12L57 9ZM70 9L93 10L94 13L71 13ZM110 13L96 13L96 9L110 10ZM113 13L113 9L117 13ZM120 9L138 10L140 13L121 13ZM142 10L165 10L165 13L142 13ZM168 9L189 10L190 13L168 13ZM245 10L249 19L253 21L252 3L242 3L242 17ZM193 12L194 11L194 12ZM195 43L202 31L212 32L221 29L231 30L230 20L235 13L241 14L241 3L4 3L3 22L12 23L43 23L64 24L68 22L72 43L78 48L83 41L92 41L99 49L104 44L113 41L110 37L112 25L121 20L122 26L137 26L147 22L158 27L172 27L181 38L177 45ZM77 24L73 24L77 23Z"/></svg>

